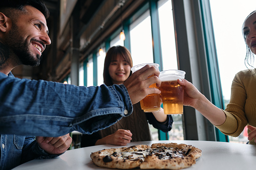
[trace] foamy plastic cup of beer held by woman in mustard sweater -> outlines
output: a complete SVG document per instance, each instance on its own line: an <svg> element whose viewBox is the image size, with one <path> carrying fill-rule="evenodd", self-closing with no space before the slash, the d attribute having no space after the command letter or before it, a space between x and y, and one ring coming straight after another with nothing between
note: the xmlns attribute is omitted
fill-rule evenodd
<svg viewBox="0 0 256 170"><path fill-rule="evenodd" d="M161 97L164 114L183 114L184 87L178 84L178 79L185 78L185 72L181 70L161 71Z"/></svg>

